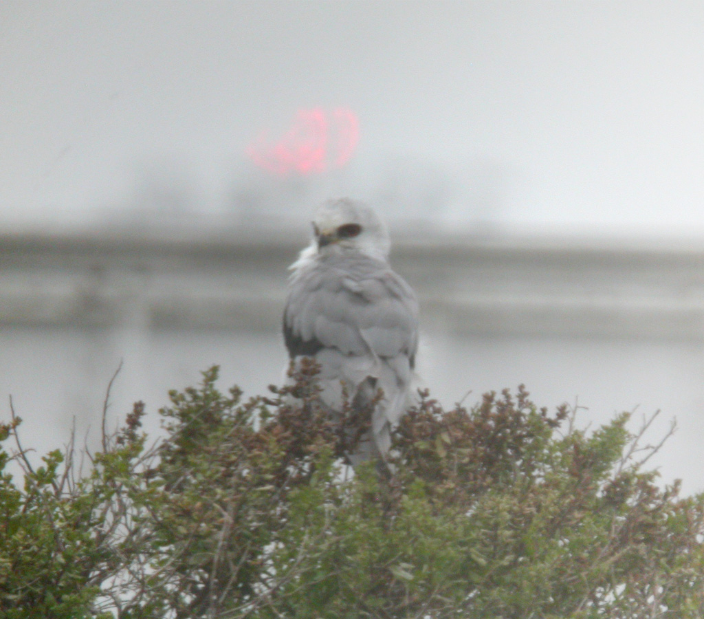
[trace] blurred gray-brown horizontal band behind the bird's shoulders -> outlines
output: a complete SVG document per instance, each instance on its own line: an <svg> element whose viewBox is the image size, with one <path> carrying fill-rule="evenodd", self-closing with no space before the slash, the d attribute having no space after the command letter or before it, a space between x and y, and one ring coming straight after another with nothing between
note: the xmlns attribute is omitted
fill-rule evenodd
<svg viewBox="0 0 704 619"><path fill-rule="evenodd" d="M0 234L0 325L276 332L306 240L192 230ZM704 341L704 244L394 239L424 320L458 334Z"/></svg>

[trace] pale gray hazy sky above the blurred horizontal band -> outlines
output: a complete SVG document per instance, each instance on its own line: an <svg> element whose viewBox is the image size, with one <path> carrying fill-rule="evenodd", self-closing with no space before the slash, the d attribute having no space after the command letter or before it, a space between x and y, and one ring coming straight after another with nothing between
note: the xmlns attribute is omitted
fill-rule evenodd
<svg viewBox="0 0 704 619"><path fill-rule="evenodd" d="M358 144L309 189L704 235L703 33L700 1L5 0L0 225L119 214L155 184L225 210L282 182L248 158L258 136L312 109L339 133L344 108Z"/></svg>

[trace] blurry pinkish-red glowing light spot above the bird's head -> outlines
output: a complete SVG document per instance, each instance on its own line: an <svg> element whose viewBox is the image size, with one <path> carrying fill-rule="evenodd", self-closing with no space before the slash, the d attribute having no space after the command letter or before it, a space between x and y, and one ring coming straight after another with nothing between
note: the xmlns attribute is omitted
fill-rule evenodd
<svg viewBox="0 0 704 619"><path fill-rule="evenodd" d="M352 110L301 109L282 137L272 141L265 130L249 144L247 154L258 167L279 176L320 174L342 168L358 140L359 123Z"/></svg>

